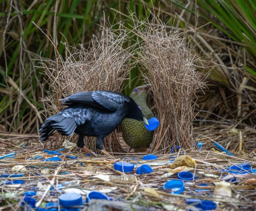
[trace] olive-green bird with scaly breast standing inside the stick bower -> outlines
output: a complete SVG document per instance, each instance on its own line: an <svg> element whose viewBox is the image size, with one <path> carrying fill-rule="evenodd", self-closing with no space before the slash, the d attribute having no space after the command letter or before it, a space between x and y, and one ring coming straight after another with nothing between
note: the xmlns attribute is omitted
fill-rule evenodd
<svg viewBox="0 0 256 211"><path fill-rule="evenodd" d="M150 118L154 117L154 114L148 108L146 102L148 89L145 88L145 86L136 88L138 88L138 92L135 93L135 91L133 91L130 97L133 98L134 101L142 108L144 117L149 120ZM145 123L137 120L125 119L122 121L120 126L123 140L127 145L129 145L135 151L145 151L146 148L149 148L149 145L153 141L154 131L148 131L147 128L145 128Z"/></svg>

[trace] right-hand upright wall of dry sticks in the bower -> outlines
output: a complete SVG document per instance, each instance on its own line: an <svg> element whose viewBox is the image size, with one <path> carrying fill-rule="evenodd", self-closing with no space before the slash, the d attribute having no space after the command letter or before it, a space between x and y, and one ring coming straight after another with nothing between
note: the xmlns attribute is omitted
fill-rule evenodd
<svg viewBox="0 0 256 211"><path fill-rule="evenodd" d="M134 17L134 21L139 22ZM185 32L167 31L160 19L154 16L151 22L140 21L134 28L143 40L140 43L139 61L143 66L143 76L150 83L154 93L160 126L149 151L167 153L172 146L193 148L192 121L196 91L204 88L206 76L197 71L204 63L186 43ZM145 26L146 25L146 26ZM145 71L144 71L145 70Z"/></svg>

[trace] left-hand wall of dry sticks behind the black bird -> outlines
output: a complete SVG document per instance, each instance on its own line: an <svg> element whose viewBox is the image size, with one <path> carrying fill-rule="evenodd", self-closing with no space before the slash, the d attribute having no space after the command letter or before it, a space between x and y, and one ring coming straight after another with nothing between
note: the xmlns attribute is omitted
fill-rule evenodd
<svg viewBox="0 0 256 211"><path fill-rule="evenodd" d="M60 111L58 99L80 91L107 90L120 92L126 75L134 67L132 57L134 45L128 45L128 32L118 23L118 29L113 26L102 26L102 35L91 41L91 47L84 49L66 48L64 59L58 54L58 61L52 61L52 67L44 65L48 76L49 94L44 100L49 114ZM115 26L116 27L116 26ZM126 48L123 48L126 45ZM58 136L58 135L57 135ZM57 137L59 138L59 137ZM71 137L76 140L76 136ZM111 141L110 141L111 140ZM122 151L116 132L107 137L108 151ZM86 138L86 147L95 149L95 140Z"/></svg>

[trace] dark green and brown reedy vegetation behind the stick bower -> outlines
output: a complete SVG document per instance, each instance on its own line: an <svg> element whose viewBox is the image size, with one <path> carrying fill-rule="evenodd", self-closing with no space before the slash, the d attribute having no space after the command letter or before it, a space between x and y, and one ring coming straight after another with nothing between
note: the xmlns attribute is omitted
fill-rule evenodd
<svg viewBox="0 0 256 211"><path fill-rule="evenodd" d="M35 133L44 120L41 98L48 87L40 60L55 56L45 34L57 40L56 48L64 58L64 43L86 48L90 40L100 37L98 24L104 16L113 24L122 20L131 29L129 11L150 18L149 11L158 10L170 29L191 30L187 35L191 39L193 29L199 28L195 50L204 60L218 64L207 79L208 89L198 93L195 125L254 127L254 0L0 0L0 132ZM143 83L138 68L127 78L125 94Z"/></svg>

